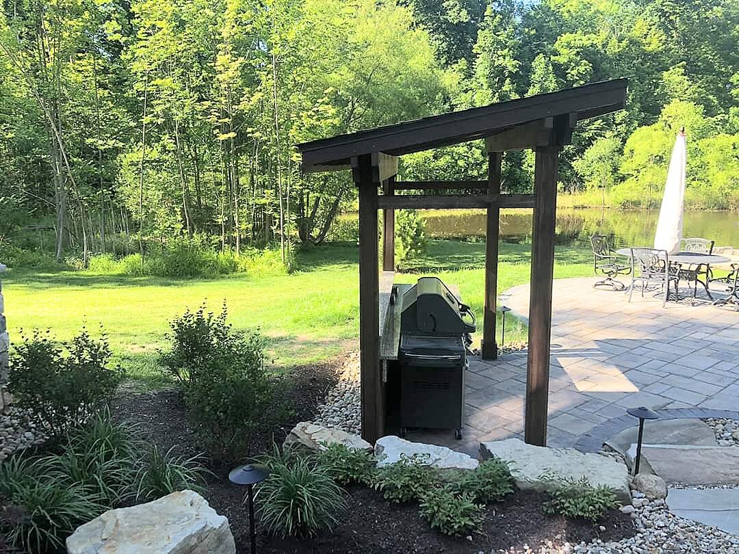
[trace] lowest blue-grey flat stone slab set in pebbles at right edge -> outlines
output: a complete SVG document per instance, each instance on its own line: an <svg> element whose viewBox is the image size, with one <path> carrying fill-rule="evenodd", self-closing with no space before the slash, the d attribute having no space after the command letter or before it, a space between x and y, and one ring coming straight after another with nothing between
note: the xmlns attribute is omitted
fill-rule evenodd
<svg viewBox="0 0 739 554"><path fill-rule="evenodd" d="M676 516L739 535L738 488L670 488L667 507Z"/></svg>

